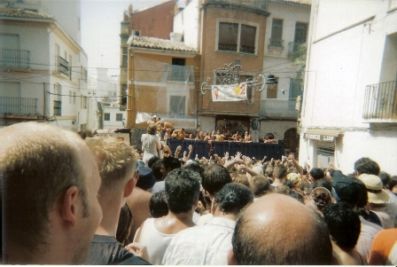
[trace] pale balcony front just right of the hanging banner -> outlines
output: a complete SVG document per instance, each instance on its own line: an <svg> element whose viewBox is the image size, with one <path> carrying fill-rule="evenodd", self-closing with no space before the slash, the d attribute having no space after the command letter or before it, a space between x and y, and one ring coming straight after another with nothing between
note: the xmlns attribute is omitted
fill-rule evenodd
<svg viewBox="0 0 397 267"><path fill-rule="evenodd" d="M296 101L287 99L262 99L261 117L298 118L298 111L295 109Z"/></svg>

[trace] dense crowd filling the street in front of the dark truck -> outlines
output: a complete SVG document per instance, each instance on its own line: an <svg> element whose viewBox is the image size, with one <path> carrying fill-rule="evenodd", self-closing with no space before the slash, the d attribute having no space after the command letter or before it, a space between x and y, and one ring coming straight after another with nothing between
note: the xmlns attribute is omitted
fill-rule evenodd
<svg viewBox="0 0 397 267"><path fill-rule="evenodd" d="M397 177L378 162L160 159L152 125L142 155L45 123L1 129L4 263L397 264Z"/></svg>

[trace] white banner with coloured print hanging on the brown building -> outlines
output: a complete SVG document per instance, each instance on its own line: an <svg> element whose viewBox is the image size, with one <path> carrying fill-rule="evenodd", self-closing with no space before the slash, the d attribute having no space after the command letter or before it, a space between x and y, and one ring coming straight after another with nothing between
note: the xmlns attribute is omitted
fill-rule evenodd
<svg viewBox="0 0 397 267"><path fill-rule="evenodd" d="M211 93L214 102L231 102L231 101L245 101L246 89L248 85L245 82L237 84L221 84L212 85Z"/></svg>

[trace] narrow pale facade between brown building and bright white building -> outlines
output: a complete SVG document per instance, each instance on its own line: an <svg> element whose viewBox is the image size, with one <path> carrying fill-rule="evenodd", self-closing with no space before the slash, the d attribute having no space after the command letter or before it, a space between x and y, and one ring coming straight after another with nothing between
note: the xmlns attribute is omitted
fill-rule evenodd
<svg viewBox="0 0 397 267"><path fill-rule="evenodd" d="M272 133L284 140L288 152L298 152L296 99L303 82L292 67L292 54L307 43L311 1L269 0L263 73L278 82L261 92L261 137ZM299 109L299 108L298 108Z"/></svg>

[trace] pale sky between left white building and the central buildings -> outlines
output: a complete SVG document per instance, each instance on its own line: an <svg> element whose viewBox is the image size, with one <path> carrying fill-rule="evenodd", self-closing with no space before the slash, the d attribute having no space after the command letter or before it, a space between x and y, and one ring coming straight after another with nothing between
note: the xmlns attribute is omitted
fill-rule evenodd
<svg viewBox="0 0 397 267"><path fill-rule="evenodd" d="M81 0L82 48L89 58L89 75L96 67L109 68L109 75L120 75L120 30L123 13L132 4L143 10L166 0Z"/></svg>

